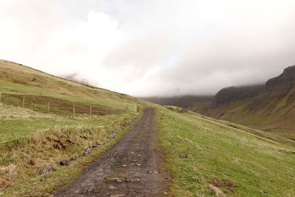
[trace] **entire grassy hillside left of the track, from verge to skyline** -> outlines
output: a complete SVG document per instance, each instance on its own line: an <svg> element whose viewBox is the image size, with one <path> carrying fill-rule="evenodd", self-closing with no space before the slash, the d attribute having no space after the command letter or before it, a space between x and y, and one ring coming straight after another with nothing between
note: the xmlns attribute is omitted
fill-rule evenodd
<svg viewBox="0 0 295 197"><path fill-rule="evenodd" d="M140 115L141 107L161 107L4 60L0 60L0 92L2 196L20 196L33 187L43 190L37 196L50 192L93 159L77 157L85 146L99 144L93 151L103 151L115 141L108 138L114 135L109 130L119 131L117 138L125 132L121 126ZM59 165L75 156L72 165ZM47 165L56 171L37 175Z"/></svg>

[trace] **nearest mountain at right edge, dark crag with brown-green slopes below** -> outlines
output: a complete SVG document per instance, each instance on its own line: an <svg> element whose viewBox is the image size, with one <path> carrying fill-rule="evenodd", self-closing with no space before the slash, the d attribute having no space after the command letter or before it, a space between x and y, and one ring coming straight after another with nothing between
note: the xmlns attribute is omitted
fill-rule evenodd
<svg viewBox="0 0 295 197"><path fill-rule="evenodd" d="M269 79L257 97L242 108L225 112L221 120L270 131L295 140L295 66Z"/></svg>

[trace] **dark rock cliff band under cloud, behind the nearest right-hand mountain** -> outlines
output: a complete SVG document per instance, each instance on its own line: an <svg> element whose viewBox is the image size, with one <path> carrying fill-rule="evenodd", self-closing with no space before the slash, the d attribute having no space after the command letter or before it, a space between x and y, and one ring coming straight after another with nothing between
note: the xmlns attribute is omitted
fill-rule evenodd
<svg viewBox="0 0 295 197"><path fill-rule="evenodd" d="M265 85L252 86L231 86L219 90L213 97L212 101L206 107L218 107L219 105L230 104L232 101L246 100L247 98L256 97Z"/></svg>

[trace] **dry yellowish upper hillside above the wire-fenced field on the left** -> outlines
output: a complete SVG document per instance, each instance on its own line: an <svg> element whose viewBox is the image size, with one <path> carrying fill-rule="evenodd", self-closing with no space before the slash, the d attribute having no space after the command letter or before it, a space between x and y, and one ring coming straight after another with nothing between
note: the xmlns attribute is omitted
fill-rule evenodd
<svg viewBox="0 0 295 197"><path fill-rule="evenodd" d="M144 106L156 106L126 94L113 92L93 86L86 86L68 79L20 65L15 62L0 60L0 91L19 93L54 94L55 96L73 96L99 99L104 101L124 102Z"/></svg>

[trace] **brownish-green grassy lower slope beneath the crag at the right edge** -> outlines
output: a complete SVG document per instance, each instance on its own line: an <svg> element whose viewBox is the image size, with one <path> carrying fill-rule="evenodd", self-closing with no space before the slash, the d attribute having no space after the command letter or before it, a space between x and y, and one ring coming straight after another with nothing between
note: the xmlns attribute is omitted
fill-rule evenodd
<svg viewBox="0 0 295 197"><path fill-rule="evenodd" d="M284 97L249 103L229 110L218 119L274 133L295 140L295 87Z"/></svg>

